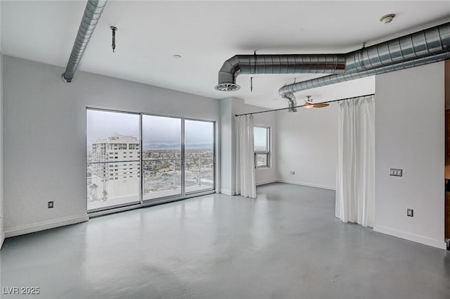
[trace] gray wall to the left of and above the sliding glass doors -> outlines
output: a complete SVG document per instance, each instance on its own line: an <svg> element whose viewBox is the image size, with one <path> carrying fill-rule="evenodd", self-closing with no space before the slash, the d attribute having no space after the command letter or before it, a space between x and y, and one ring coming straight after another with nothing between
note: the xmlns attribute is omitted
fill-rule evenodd
<svg viewBox="0 0 450 299"><path fill-rule="evenodd" d="M6 236L86 219L86 106L215 120L219 101L4 57ZM55 201L48 209L47 201Z"/></svg>

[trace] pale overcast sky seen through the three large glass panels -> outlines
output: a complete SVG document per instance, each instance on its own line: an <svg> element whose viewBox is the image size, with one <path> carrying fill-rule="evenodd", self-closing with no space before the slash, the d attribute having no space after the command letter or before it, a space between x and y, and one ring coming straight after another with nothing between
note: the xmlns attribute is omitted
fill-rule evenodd
<svg viewBox="0 0 450 299"><path fill-rule="evenodd" d="M185 121L186 146L189 144L212 144L214 123L196 120ZM113 134L135 136L139 139L139 114L117 113L103 110L87 110L87 144L98 138ZM181 144L181 119L154 115L142 116L143 148L150 144Z"/></svg>

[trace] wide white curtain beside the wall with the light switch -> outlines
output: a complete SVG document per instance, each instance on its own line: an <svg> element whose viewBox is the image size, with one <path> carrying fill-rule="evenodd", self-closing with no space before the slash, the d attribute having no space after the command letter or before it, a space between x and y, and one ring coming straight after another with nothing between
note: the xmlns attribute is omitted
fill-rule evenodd
<svg viewBox="0 0 450 299"><path fill-rule="evenodd" d="M373 227L375 222L375 98L339 103L336 217Z"/></svg>

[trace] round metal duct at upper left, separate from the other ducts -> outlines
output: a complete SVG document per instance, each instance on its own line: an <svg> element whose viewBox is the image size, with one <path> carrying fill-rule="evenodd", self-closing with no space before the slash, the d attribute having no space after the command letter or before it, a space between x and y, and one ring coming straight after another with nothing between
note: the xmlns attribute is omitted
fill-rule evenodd
<svg viewBox="0 0 450 299"><path fill-rule="evenodd" d="M73 44L72 53L68 66L65 68L65 72L61 77L65 82L72 82L73 75L78 68L79 62L82 60L84 50L86 50L89 39L91 39L92 33L96 29L98 19L105 8L108 0L89 0L84 8L84 15L82 22L79 24L77 37Z"/></svg>

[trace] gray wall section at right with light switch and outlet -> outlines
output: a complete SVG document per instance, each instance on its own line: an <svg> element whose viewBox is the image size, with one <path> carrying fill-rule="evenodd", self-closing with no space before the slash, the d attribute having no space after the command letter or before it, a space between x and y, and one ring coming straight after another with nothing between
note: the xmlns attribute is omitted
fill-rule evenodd
<svg viewBox="0 0 450 299"><path fill-rule="evenodd" d="M375 110L373 229L446 248L444 62L378 75Z"/></svg>

